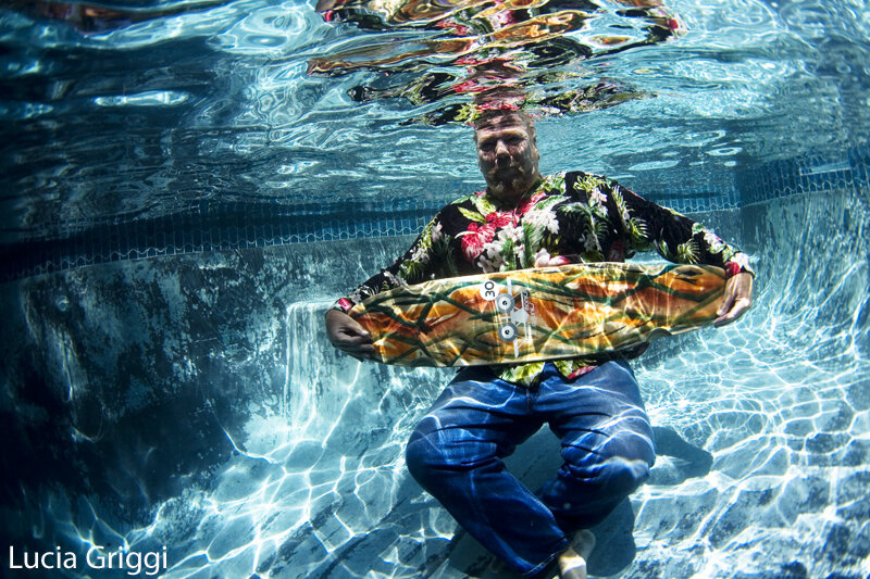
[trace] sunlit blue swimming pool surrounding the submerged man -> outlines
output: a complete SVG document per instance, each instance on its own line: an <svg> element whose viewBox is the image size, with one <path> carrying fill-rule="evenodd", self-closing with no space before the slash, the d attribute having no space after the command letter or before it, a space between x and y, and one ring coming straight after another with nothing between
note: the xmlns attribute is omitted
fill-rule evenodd
<svg viewBox="0 0 870 579"><path fill-rule="evenodd" d="M622 23L601 5L594 30ZM684 36L571 65L633 98L540 121L543 169L698 216L751 255L757 301L634 364L654 424L713 462L662 455L596 528L591 572L868 577L867 9L669 5ZM359 364L321 328L481 185L467 128L402 124L453 97L363 102L348 92L394 87L383 71L306 74L419 32L160 8L96 32L2 13L4 556L75 553L70 577L133 570L92 568L92 545L165 553L167 577L493 576L403 465L451 373ZM534 484L551 446L512 468Z"/></svg>

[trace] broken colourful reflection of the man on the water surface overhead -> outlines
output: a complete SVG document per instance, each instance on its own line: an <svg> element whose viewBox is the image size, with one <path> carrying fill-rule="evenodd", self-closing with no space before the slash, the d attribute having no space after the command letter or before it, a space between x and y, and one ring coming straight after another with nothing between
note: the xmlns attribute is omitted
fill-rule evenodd
<svg viewBox="0 0 870 579"><path fill-rule="evenodd" d="M686 33L679 15L660 0L617 0L613 8L621 26L604 23L608 12L588 0L319 0L316 10L328 23L391 30L396 37L384 42L369 35L368 42L327 50L309 61L308 72L335 76L372 71L362 85L348 90L357 102L437 103L405 124L468 122L474 106L457 96L504 87L532 89L524 102L551 113L607 109L649 95L617 78L599 78L581 63Z"/></svg>

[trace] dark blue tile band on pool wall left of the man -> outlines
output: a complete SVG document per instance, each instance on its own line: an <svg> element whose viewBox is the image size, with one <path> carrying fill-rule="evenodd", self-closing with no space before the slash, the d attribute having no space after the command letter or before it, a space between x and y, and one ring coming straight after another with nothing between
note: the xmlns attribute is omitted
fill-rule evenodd
<svg viewBox="0 0 870 579"><path fill-rule="evenodd" d="M0 281L101 263L212 250L419 234L444 203L386 207L198 204L181 214L70 228L0 246ZM330 212L334 209L334 212Z"/></svg>

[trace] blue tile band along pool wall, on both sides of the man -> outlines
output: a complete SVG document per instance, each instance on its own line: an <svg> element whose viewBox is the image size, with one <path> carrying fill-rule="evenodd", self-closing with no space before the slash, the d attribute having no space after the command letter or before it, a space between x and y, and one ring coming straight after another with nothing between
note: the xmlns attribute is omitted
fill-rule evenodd
<svg viewBox="0 0 870 579"><path fill-rule="evenodd" d="M623 185L681 213L734 210L812 191L866 188L870 148L775 161L735 173L668 169ZM408 199L382 206L200 201L178 213L135 221L66 223L45 237L0 246L0 281L109 262L212 250L415 235L446 203Z"/></svg>

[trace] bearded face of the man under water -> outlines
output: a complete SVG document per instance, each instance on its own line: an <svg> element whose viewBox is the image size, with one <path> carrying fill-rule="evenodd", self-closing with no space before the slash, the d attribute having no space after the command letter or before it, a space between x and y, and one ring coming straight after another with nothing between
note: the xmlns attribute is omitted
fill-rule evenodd
<svg viewBox="0 0 870 579"><path fill-rule="evenodd" d="M538 177L534 129L519 115L494 117L474 131L477 164L496 197L519 198Z"/></svg>

